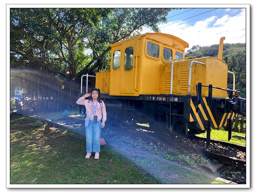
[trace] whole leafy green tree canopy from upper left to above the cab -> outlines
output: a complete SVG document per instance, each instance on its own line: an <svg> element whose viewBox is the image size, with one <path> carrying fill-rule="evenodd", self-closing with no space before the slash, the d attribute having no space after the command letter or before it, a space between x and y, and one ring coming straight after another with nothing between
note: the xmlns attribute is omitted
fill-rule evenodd
<svg viewBox="0 0 256 196"><path fill-rule="evenodd" d="M110 68L109 44L159 32L172 8L11 8L10 63L77 79ZM77 77L76 77L77 76Z"/></svg>

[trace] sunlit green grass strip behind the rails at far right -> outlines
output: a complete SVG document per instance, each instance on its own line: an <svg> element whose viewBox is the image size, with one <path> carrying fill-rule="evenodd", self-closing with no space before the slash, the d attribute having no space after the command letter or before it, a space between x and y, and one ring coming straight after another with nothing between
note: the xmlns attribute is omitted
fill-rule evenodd
<svg viewBox="0 0 256 196"><path fill-rule="evenodd" d="M211 129L211 139L213 140L219 140L219 141L224 141L224 142L229 142L237 145L243 145L246 146L246 140L234 137L234 135L240 135L240 136L246 136L246 133L241 133L241 132L233 132L232 131L232 138L231 140L228 141L228 131L225 131L223 129ZM199 137L205 137L206 138L206 132L198 134L197 136Z"/></svg>

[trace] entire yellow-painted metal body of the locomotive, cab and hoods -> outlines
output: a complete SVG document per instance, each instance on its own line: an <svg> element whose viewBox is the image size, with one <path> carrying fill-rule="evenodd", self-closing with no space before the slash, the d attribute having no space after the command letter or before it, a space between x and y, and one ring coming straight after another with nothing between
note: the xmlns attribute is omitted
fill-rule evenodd
<svg viewBox="0 0 256 196"><path fill-rule="evenodd" d="M147 42L159 46L159 57L147 54ZM109 95L139 96L140 94L170 94L171 62L163 59L163 48L172 50L183 56L174 62L173 94L188 94L189 64L192 60L184 58L187 42L175 36L164 33L146 33L122 42L109 45L111 47L111 69L96 73L96 88ZM124 53L126 48L133 47L133 67L129 71L124 69ZM113 69L113 53L121 51L120 68ZM196 84L212 84L216 87L227 87L228 66L222 60L213 57L198 58L197 61L206 65L193 64L191 73L191 95L196 95ZM202 96L208 96L208 88L202 87ZM226 91L213 89L212 96L226 97Z"/></svg>

